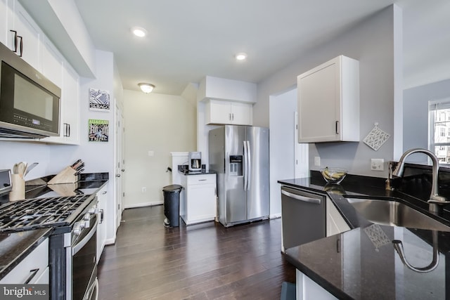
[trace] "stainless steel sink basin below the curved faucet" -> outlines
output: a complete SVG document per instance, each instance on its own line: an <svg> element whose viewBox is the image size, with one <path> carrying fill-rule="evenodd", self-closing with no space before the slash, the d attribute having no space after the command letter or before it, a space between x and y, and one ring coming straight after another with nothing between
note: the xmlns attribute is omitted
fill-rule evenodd
<svg viewBox="0 0 450 300"><path fill-rule="evenodd" d="M350 197L345 199L352 204L359 214L372 223L450 232L449 226L394 199L380 200Z"/></svg>

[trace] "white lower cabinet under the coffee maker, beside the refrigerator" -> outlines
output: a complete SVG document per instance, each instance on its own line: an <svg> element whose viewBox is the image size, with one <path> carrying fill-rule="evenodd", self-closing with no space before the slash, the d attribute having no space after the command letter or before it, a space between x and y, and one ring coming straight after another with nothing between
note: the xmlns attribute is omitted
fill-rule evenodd
<svg viewBox="0 0 450 300"><path fill-rule="evenodd" d="M217 214L216 174L181 176L180 215L186 225L212 221Z"/></svg>

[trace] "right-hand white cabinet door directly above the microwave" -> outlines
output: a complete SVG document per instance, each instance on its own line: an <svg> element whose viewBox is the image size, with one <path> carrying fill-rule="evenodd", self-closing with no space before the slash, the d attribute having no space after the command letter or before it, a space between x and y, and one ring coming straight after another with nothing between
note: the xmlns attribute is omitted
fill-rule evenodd
<svg viewBox="0 0 450 300"><path fill-rule="evenodd" d="M41 71L40 64L40 38L41 29L30 15L21 6L18 0L11 1L13 7L13 18L9 29L17 32L18 39L15 39L15 34L9 32L9 42L6 46L14 51L15 44L18 45L18 54L22 54L23 60L32 65L36 70ZM20 50L20 42L23 48Z"/></svg>

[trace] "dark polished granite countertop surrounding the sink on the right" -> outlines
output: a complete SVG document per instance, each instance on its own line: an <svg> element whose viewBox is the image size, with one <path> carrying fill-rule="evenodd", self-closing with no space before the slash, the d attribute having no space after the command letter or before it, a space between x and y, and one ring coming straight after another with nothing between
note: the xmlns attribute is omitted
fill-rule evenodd
<svg viewBox="0 0 450 300"><path fill-rule="evenodd" d="M285 257L309 278L339 299L449 299L450 232L373 224L359 215L343 195L395 197L441 223L450 225L449 212L440 216L428 212L427 193L413 194L385 190L385 178L347 177L340 185L327 185L318 171L310 178L280 180L330 197L352 230L286 250ZM428 192L428 195L429 192ZM417 197L418 196L418 197ZM425 198L425 199L423 199ZM435 232L436 233L436 232ZM401 262L392 240L401 240L406 260L416 267L432 262L433 244L439 251L437 267L425 273Z"/></svg>

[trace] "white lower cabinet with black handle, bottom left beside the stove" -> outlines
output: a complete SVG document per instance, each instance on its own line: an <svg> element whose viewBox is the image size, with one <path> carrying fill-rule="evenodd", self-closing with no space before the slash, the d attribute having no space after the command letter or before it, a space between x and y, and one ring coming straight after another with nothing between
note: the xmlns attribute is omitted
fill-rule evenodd
<svg viewBox="0 0 450 300"><path fill-rule="evenodd" d="M49 239L46 238L36 249L20 261L4 278L1 285L49 284Z"/></svg>

